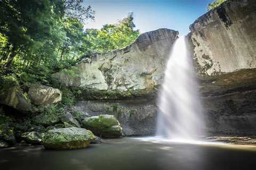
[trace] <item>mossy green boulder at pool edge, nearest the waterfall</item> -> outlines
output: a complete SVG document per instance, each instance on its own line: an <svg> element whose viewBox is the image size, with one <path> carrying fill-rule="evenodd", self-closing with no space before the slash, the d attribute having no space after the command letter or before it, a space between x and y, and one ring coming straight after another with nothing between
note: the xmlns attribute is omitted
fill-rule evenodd
<svg viewBox="0 0 256 170"><path fill-rule="evenodd" d="M99 115L82 121L82 128L91 130L102 138L119 138L122 136L120 123L113 115Z"/></svg>

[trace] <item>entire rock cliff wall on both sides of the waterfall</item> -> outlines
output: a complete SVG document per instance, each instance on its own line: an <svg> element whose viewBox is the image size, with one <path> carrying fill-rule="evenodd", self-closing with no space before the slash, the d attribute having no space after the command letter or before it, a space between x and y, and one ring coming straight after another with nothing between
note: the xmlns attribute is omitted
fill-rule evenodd
<svg viewBox="0 0 256 170"><path fill-rule="evenodd" d="M233 0L190 25L191 57L210 134L256 132L256 1ZM157 90L178 31L143 33L130 46L95 54L52 75L80 90L76 109L113 114L125 135L154 134Z"/></svg>

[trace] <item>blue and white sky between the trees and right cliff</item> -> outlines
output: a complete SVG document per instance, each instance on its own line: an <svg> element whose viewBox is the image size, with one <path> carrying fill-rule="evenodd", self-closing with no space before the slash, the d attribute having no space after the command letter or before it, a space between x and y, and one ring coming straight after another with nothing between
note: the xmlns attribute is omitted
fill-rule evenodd
<svg viewBox="0 0 256 170"><path fill-rule="evenodd" d="M84 0L95 11L95 21L84 28L100 29L103 24L116 23L133 12L134 24L141 33L159 28L189 32L189 25L206 12L213 0Z"/></svg>

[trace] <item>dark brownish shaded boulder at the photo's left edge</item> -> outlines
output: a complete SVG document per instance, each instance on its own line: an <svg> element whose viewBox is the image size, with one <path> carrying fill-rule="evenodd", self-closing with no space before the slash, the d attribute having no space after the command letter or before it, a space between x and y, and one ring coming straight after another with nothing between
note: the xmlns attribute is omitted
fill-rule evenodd
<svg viewBox="0 0 256 170"><path fill-rule="evenodd" d="M10 106L20 112L30 112L29 98L19 86L4 87L0 90L0 104Z"/></svg>

